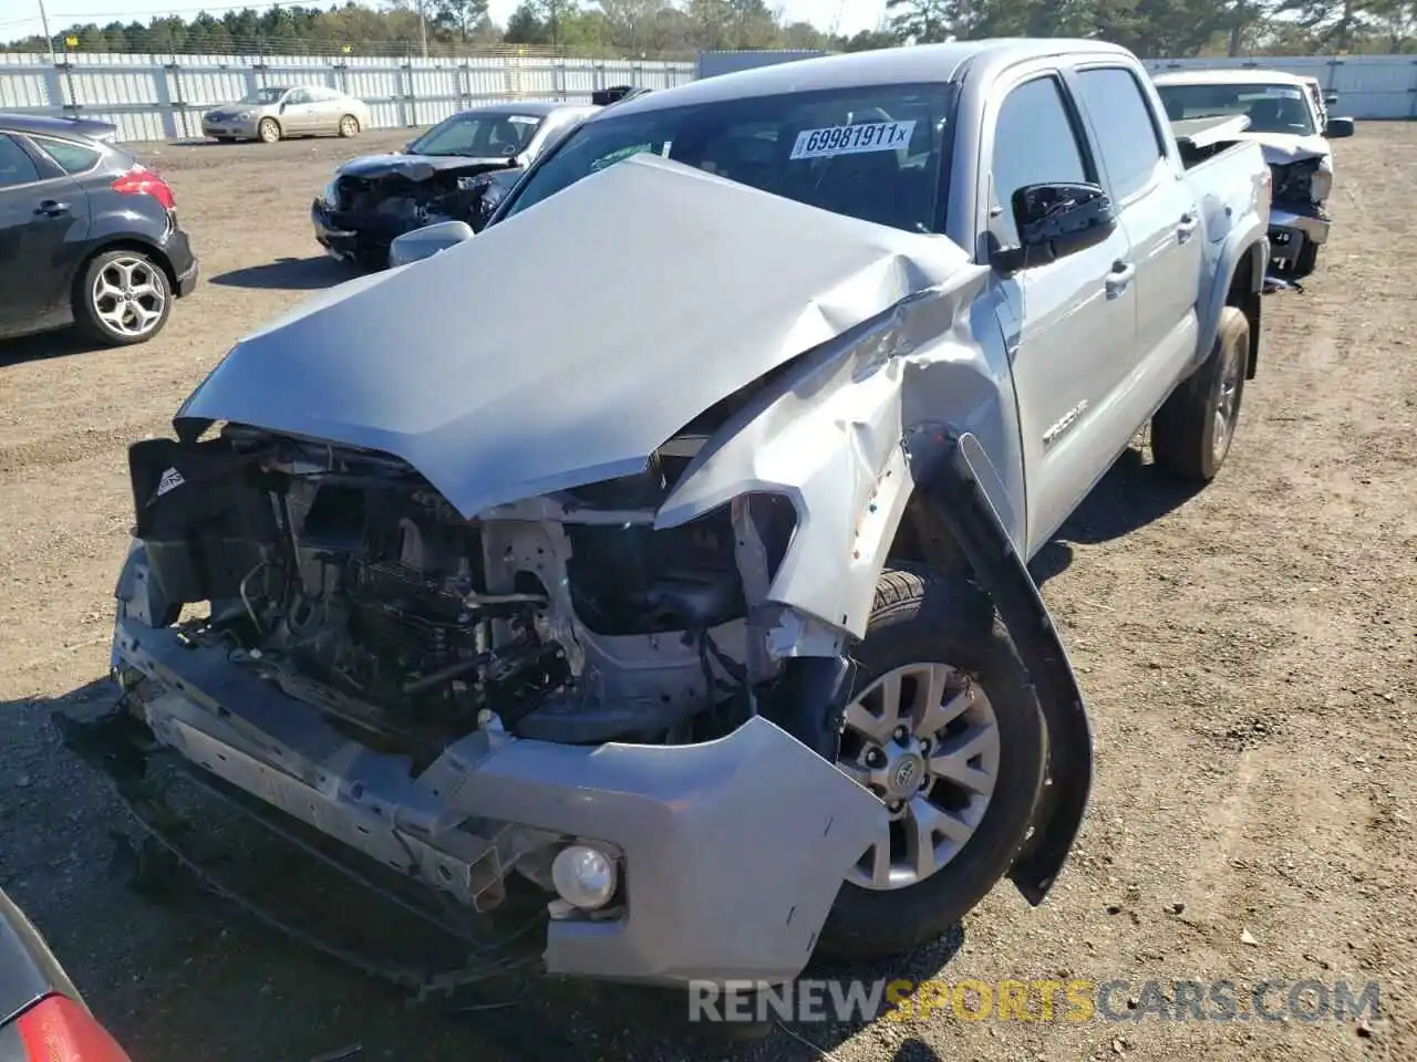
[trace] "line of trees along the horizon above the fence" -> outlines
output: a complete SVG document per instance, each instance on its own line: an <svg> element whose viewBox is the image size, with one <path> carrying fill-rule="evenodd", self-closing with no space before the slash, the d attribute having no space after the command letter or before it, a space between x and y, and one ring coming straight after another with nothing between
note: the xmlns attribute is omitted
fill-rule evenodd
<svg viewBox="0 0 1417 1062"><path fill-rule="evenodd" d="M845 3L845 0L842 0ZM689 58L721 48L863 51L979 37L1091 37L1148 58L1417 52L1417 0L887 0L874 30L786 21L767 0L523 0L497 25L487 0L244 8L220 17L88 23L61 50L222 55L456 55L523 48ZM44 37L3 45L44 52Z"/></svg>

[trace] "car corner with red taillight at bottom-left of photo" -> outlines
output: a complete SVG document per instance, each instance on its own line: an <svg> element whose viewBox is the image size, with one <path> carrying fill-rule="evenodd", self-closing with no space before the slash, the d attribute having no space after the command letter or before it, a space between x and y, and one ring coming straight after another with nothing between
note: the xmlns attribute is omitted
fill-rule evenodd
<svg viewBox="0 0 1417 1062"><path fill-rule="evenodd" d="M0 889L0 1062L132 1062Z"/></svg>

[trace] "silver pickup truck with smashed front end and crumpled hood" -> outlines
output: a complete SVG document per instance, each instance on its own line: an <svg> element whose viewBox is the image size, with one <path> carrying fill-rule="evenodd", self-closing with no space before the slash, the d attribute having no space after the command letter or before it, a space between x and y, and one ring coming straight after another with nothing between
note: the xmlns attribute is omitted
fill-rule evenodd
<svg viewBox="0 0 1417 1062"><path fill-rule="evenodd" d="M1010 40L591 118L132 447L71 746L164 844L156 759L444 916L530 891L555 974L782 983L1040 903L1093 743L1026 562L1148 422L1213 477L1255 371L1270 170L1163 113Z"/></svg>

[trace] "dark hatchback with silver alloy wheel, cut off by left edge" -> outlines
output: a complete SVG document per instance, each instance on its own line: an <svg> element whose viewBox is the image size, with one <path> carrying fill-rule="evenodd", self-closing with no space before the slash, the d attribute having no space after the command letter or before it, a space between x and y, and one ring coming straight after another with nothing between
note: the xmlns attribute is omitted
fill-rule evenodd
<svg viewBox="0 0 1417 1062"><path fill-rule="evenodd" d="M173 190L106 122L0 113L0 338L143 343L197 283Z"/></svg>

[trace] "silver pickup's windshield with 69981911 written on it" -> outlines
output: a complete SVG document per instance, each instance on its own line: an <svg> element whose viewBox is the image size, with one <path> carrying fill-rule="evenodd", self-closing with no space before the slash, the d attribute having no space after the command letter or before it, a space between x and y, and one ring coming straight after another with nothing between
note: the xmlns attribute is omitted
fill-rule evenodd
<svg viewBox="0 0 1417 1062"><path fill-rule="evenodd" d="M642 152L836 214L937 232L951 86L873 85L595 118L517 187L502 218Z"/></svg>

